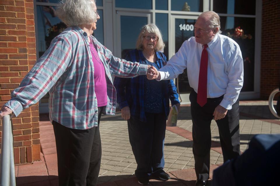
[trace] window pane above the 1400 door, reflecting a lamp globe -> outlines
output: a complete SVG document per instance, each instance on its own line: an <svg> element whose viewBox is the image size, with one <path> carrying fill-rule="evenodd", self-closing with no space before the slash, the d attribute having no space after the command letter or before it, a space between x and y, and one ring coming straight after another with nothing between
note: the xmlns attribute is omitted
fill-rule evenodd
<svg viewBox="0 0 280 186"><path fill-rule="evenodd" d="M171 0L171 10L202 12L203 0Z"/></svg>

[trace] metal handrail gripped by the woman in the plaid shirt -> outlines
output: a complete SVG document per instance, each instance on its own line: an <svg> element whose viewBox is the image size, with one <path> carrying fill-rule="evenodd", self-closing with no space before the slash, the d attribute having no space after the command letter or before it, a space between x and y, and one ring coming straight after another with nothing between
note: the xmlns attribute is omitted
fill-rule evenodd
<svg viewBox="0 0 280 186"><path fill-rule="evenodd" d="M0 171L1 186L15 186L13 133L10 115L4 116L2 120Z"/></svg>

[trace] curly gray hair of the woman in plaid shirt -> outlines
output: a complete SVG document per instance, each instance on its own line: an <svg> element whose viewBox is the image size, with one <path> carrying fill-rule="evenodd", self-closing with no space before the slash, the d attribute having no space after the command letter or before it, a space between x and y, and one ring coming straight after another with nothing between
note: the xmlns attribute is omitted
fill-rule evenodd
<svg viewBox="0 0 280 186"><path fill-rule="evenodd" d="M55 15L67 26L91 24L97 20L95 0L60 0Z"/></svg>

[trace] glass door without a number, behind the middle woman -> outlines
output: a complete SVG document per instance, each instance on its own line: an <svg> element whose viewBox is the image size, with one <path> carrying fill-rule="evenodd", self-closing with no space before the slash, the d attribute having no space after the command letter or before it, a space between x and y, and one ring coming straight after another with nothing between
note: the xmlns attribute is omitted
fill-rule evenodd
<svg viewBox="0 0 280 186"><path fill-rule="evenodd" d="M151 22L150 13L117 11L117 57L123 58L129 50L136 48L136 40L143 25Z"/></svg>

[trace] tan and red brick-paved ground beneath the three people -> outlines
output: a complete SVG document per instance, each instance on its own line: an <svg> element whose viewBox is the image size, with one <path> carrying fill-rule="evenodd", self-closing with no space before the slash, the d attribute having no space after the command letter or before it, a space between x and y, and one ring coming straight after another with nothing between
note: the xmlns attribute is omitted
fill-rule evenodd
<svg viewBox="0 0 280 186"><path fill-rule="evenodd" d="M196 176L192 155L192 121L189 105L181 107L177 127L167 127L164 143L164 170L171 179L150 180L150 185L192 186ZM211 172L223 163L218 127L211 123ZM280 120L269 111L268 101L240 101L241 151L255 134L280 133ZM115 116L101 116L100 134L102 160L99 186L139 185L134 176L136 162L128 139L127 122L120 112ZM40 115L41 161L15 166L17 185L57 186L57 154L53 126L46 115ZM210 184L211 185L211 181Z"/></svg>

